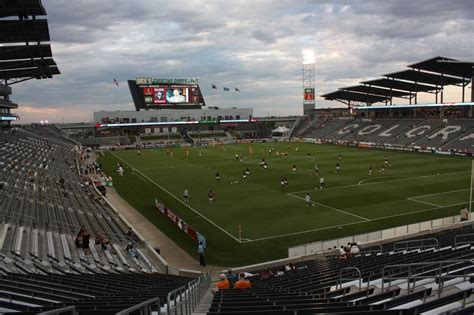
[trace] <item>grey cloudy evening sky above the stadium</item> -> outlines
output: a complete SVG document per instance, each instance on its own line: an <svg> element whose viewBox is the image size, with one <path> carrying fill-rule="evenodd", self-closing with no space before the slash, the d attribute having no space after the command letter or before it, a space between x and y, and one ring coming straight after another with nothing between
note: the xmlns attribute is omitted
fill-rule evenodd
<svg viewBox="0 0 474 315"><path fill-rule="evenodd" d="M198 78L209 106L252 107L256 116L301 114L304 48L315 51L317 95L434 56L474 60L472 0L43 5L62 74L13 86L22 122L91 121L96 110L131 110L126 80L136 77ZM120 82L115 91L113 78ZM213 90L212 83L241 92ZM460 88L445 100L459 101ZM339 105L318 97L317 106Z"/></svg>

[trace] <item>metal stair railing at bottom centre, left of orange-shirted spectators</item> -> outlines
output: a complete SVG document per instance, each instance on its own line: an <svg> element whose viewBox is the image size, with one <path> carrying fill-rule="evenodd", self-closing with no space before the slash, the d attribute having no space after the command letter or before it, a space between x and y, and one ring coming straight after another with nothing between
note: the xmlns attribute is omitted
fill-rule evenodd
<svg viewBox="0 0 474 315"><path fill-rule="evenodd" d="M168 293L166 299L167 315L191 315L211 286L211 275L206 273Z"/></svg>

